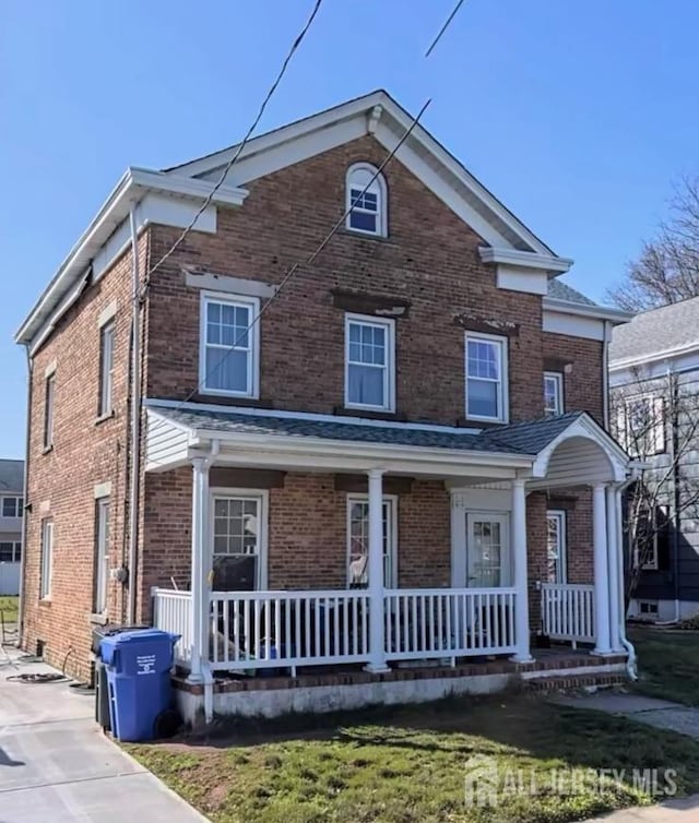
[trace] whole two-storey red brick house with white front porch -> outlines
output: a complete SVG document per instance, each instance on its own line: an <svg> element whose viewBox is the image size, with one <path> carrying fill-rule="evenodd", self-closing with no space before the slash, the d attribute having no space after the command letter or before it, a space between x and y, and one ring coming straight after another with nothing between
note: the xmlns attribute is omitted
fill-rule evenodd
<svg viewBox="0 0 699 823"><path fill-rule="evenodd" d="M495 688L543 671L542 632L623 671L627 315L422 127L376 176L410 123L376 92L254 138L217 189L235 147L127 171L16 335L26 648L87 678L93 625L153 617L187 716ZM428 663L459 665L404 671Z"/></svg>

